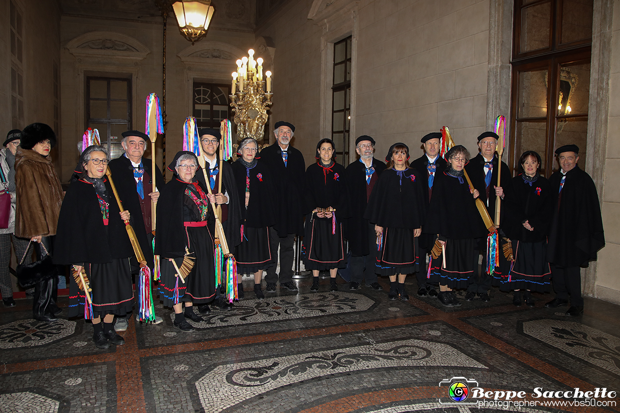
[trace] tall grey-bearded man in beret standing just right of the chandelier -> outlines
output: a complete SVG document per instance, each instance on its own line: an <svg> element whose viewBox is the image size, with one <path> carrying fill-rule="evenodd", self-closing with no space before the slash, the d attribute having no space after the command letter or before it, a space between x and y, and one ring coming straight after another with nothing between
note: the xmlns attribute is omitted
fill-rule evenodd
<svg viewBox="0 0 620 413"><path fill-rule="evenodd" d="M267 293L275 293L276 283L288 291L297 291L293 283L293 242L295 235L304 233L304 182L306 180L306 162L298 149L291 146L295 132L293 124L276 122L276 143L260 151L260 158L265 161L275 179L275 201L277 221L269 229L271 250L280 247L280 273L275 273L275 265L267 269L265 282Z"/></svg>

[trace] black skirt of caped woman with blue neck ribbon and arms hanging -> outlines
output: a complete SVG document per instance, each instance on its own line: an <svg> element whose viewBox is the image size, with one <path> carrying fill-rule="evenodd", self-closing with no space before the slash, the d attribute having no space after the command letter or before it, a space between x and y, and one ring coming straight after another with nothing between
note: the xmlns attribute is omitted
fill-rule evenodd
<svg viewBox="0 0 620 413"><path fill-rule="evenodd" d="M414 229L383 228L377 252L376 273L396 275L414 273L417 267Z"/></svg>

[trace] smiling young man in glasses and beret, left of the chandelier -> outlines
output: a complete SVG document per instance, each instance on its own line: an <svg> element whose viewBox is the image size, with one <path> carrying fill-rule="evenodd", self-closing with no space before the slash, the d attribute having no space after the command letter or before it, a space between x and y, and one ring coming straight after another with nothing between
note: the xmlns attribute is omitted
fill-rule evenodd
<svg viewBox="0 0 620 413"><path fill-rule="evenodd" d="M234 247L241 244L241 204L239 203L239 195L237 194L237 184L234 180L232 167L228 162L220 162L218 158L219 140L222 135L219 129L202 128L198 130L200 135L200 146L202 155L205 158L205 171L197 172L196 177L202 184L209 185L211 192L215 195L215 203L222 208L222 226L226 235L226 242L231 251ZM222 190L219 190L219 179L222 179ZM240 283L239 286L242 287ZM219 296L219 289L216 291L215 301L213 304L220 309L232 309L232 304L223 300ZM239 299L244 298L243 290L239 291ZM208 304L198 306L200 314L210 312Z"/></svg>

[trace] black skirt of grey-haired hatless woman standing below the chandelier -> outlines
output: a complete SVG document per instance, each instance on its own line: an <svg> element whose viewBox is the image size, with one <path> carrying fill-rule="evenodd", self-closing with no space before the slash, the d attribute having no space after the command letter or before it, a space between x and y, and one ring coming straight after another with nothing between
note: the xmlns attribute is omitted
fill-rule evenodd
<svg viewBox="0 0 620 413"><path fill-rule="evenodd" d="M269 242L269 227L251 228L243 226L241 244L235 248L234 257L237 261L237 273L253 274L259 270L272 267L273 260Z"/></svg>

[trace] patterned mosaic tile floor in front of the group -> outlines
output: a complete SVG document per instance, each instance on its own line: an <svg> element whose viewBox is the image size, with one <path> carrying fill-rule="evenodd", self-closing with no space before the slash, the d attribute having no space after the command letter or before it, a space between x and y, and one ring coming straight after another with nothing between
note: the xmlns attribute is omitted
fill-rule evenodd
<svg viewBox="0 0 620 413"><path fill-rule="evenodd" d="M443 308L409 279L407 302L387 299L387 280L340 282L312 293L307 278L259 301L248 279L246 300L191 333L159 304L162 324L132 318L107 350L66 310L38 322L16 300L0 311L0 412L620 411L620 306L586 299L569 318L543 308L551 296L517 308L492 290L490 303ZM592 393L564 394L575 388Z"/></svg>

